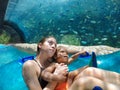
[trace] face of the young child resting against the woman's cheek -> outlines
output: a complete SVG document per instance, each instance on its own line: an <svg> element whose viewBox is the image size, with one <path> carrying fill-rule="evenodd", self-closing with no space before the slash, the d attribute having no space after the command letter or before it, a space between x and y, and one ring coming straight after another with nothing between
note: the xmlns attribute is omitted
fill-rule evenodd
<svg viewBox="0 0 120 90"><path fill-rule="evenodd" d="M68 63L68 53L65 48L60 48L57 50L56 61L58 63Z"/></svg>

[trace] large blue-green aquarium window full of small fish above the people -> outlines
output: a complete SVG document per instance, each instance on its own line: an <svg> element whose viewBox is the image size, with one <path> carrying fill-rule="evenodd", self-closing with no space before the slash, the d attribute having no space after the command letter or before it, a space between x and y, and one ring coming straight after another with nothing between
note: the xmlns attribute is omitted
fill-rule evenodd
<svg viewBox="0 0 120 90"><path fill-rule="evenodd" d="M9 0L4 21L28 43L54 35L59 43L120 46L119 0Z"/></svg>

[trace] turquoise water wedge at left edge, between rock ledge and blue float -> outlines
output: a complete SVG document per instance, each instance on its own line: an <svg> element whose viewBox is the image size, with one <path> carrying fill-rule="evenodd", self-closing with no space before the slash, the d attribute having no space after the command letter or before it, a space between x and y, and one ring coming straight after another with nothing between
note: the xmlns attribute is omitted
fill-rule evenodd
<svg viewBox="0 0 120 90"><path fill-rule="evenodd" d="M28 52L20 51L11 45L3 44L0 44L0 52L0 66L30 55Z"/></svg>

